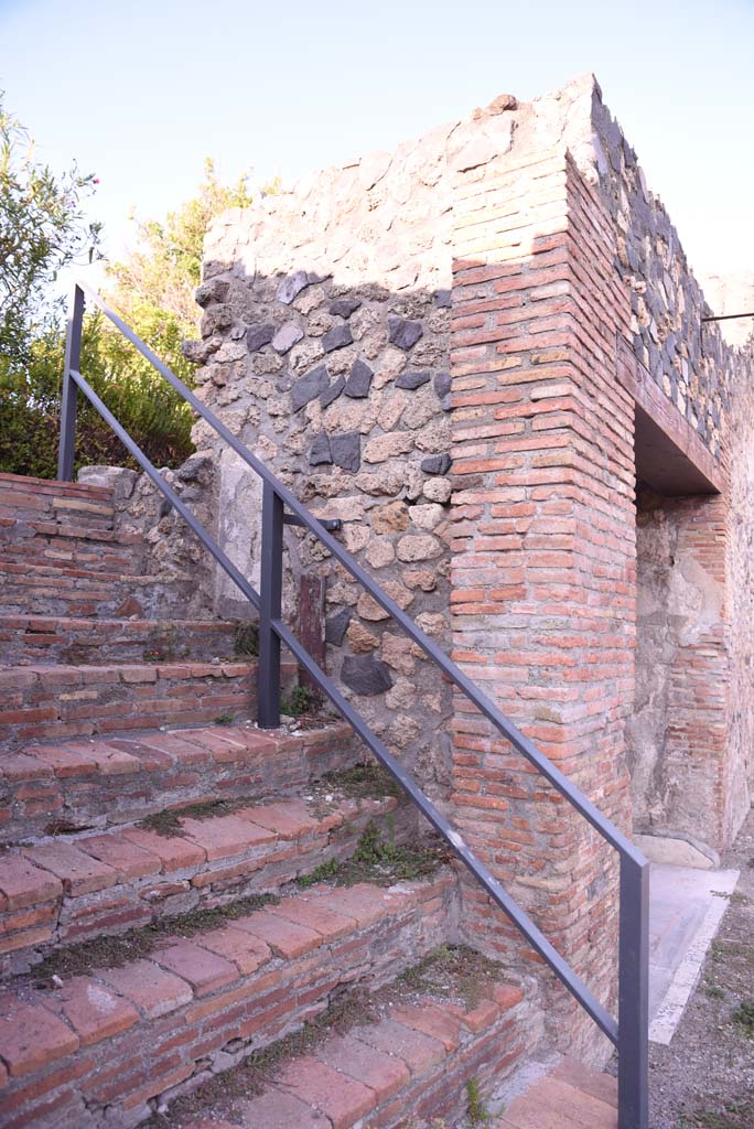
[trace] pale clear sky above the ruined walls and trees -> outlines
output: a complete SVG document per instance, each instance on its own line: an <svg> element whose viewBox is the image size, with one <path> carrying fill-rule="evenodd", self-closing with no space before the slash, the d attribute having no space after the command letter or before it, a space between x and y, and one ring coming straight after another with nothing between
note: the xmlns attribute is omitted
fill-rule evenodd
<svg viewBox="0 0 754 1129"><path fill-rule="evenodd" d="M594 70L692 265L754 270L754 0L0 0L0 88L53 167L133 204L283 182Z"/></svg>

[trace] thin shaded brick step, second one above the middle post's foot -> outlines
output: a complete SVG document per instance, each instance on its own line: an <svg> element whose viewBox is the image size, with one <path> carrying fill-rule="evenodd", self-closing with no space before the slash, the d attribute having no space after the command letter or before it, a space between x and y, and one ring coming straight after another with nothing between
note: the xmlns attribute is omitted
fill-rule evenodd
<svg viewBox="0 0 754 1129"><path fill-rule="evenodd" d="M0 660L72 665L176 659L236 660L238 624L223 620L0 615Z"/></svg>

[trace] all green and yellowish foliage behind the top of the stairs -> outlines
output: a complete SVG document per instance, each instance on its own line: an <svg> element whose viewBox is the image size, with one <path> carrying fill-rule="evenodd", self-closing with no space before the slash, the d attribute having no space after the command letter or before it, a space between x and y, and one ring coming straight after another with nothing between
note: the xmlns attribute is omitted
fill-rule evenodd
<svg viewBox="0 0 754 1129"><path fill-rule="evenodd" d="M85 213L96 178L76 166L55 177L40 165L1 98L0 146L0 471L54 478L64 329L50 288L62 268L98 254L100 228ZM108 303L187 384L181 347L196 336L193 291L207 226L251 202L246 177L223 185L208 160L196 195L163 220L138 224L134 252L107 269ZM85 318L81 371L152 462L175 466L191 454L191 409L99 314ZM76 465L93 463L134 465L79 394Z"/></svg>

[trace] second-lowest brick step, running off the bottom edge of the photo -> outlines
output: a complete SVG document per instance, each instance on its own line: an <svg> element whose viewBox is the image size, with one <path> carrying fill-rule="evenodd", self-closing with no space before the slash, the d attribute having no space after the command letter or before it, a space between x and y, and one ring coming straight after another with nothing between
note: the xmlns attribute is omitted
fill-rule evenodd
<svg viewBox="0 0 754 1129"><path fill-rule="evenodd" d="M386 1004L371 1022L333 1033L308 1053L287 1058L256 1095L247 1089L246 1095L234 1097L243 1085L234 1085L230 1071L228 1079L223 1079L230 1091L227 1096L208 1103L199 1117L170 1115L170 1126L175 1129L498 1126L486 1110L484 1097L526 1056L523 1000L520 988L502 981L486 986L473 1006L417 992L409 1003ZM473 1099L470 1084L474 1087ZM199 1102L201 1094L199 1089ZM167 1099L169 1102L169 1094ZM221 1112L217 1112L217 1106ZM569 1129L576 1129L577 1123L581 1124L569 1122ZM531 1129L535 1129L534 1124ZM537 1122L536 1129L549 1129L549 1122Z"/></svg>

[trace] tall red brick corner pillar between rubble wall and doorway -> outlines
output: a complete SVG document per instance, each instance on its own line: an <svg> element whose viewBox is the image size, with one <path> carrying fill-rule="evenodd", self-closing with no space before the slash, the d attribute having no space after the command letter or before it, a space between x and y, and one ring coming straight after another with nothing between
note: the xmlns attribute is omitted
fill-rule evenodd
<svg viewBox="0 0 754 1129"><path fill-rule="evenodd" d="M562 149L470 170L456 200L455 657L626 826L633 404L615 379L630 308L612 270L614 233ZM612 999L611 852L463 702L454 784L466 837ZM509 948L492 918L470 889L475 940ZM570 1005L556 998L561 1025Z"/></svg>

